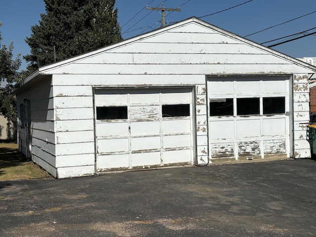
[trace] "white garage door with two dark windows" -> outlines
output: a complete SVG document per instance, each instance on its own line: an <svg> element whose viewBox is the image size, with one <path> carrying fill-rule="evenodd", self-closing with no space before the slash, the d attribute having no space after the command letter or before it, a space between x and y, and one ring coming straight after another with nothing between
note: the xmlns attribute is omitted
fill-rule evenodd
<svg viewBox="0 0 316 237"><path fill-rule="evenodd" d="M96 89L97 172L193 164L192 89Z"/></svg>

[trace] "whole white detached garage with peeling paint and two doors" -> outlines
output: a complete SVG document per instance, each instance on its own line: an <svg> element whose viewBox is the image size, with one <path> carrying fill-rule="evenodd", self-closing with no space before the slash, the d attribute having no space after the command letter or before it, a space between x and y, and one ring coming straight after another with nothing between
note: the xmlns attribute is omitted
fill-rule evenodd
<svg viewBox="0 0 316 237"><path fill-rule="evenodd" d="M309 158L315 72L190 18L24 79L14 90L19 148L56 178Z"/></svg>

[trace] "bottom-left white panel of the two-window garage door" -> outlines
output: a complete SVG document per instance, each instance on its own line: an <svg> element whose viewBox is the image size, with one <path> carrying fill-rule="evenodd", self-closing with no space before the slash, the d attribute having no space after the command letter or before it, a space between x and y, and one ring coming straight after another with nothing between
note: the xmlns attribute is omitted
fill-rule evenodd
<svg viewBox="0 0 316 237"><path fill-rule="evenodd" d="M103 155L98 156L97 159L97 169L107 168L117 168L117 167L128 167L129 166L129 156L128 154L118 154L118 155Z"/></svg>

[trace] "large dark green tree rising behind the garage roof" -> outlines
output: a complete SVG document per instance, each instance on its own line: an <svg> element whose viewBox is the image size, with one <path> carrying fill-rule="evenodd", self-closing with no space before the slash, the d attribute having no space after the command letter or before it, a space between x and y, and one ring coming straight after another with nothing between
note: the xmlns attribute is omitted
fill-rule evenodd
<svg viewBox="0 0 316 237"><path fill-rule="evenodd" d="M26 42L28 71L121 40L115 0L44 0L45 13Z"/></svg>

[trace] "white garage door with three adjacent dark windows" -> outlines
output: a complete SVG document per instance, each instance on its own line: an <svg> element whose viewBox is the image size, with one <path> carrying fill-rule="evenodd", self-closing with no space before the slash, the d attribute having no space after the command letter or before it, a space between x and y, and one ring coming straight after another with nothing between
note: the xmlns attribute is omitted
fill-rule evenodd
<svg viewBox="0 0 316 237"><path fill-rule="evenodd" d="M210 78L211 158L289 157L287 77Z"/></svg>

